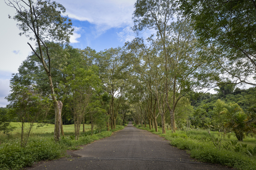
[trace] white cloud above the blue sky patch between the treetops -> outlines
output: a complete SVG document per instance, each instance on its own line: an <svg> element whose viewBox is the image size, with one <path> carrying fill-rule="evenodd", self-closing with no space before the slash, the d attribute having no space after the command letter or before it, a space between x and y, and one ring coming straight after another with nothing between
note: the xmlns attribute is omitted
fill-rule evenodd
<svg viewBox="0 0 256 170"><path fill-rule="evenodd" d="M69 18L96 25L97 34L110 28L132 26L136 0L57 0L66 8Z"/></svg>

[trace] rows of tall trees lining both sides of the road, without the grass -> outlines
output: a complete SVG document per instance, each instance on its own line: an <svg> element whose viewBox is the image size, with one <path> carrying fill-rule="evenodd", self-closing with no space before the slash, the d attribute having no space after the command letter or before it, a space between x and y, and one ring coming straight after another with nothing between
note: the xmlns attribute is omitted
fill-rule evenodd
<svg viewBox="0 0 256 170"><path fill-rule="evenodd" d="M176 124L180 126L193 112L193 91L216 83L221 88L255 85L249 81L256 70L254 0L137 0L133 30L139 35L151 29L155 35L100 52L69 45L72 23L62 15L65 8L59 3L5 2L16 9L12 18L21 35L36 42L35 49L28 43L32 55L11 79L13 94L16 86L29 90L36 86L35 96L52 101L53 114L44 119L54 117L56 141L61 131L64 135L63 120L74 121L76 140L85 120L91 123L91 133L95 124L115 129L117 122L129 118L148 123L155 131L160 124L163 133L166 125L176 132ZM245 34L240 34L243 29ZM227 75L233 81L226 81ZM15 95L7 99L9 108L17 108Z"/></svg>

